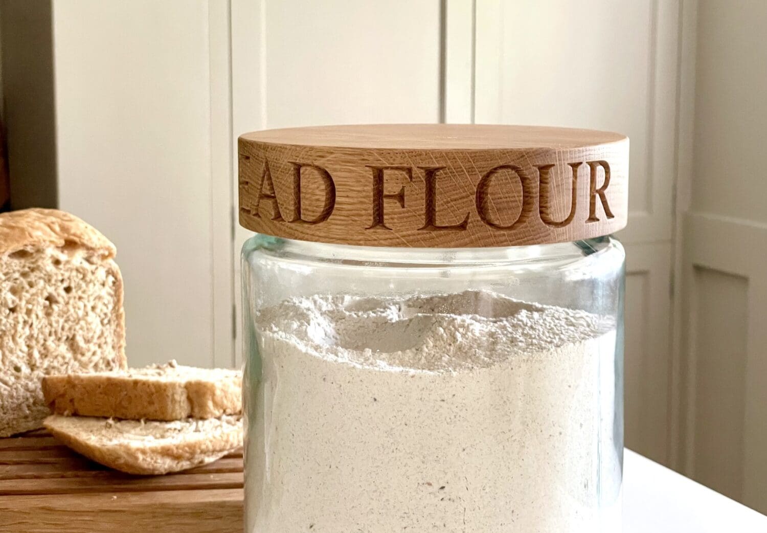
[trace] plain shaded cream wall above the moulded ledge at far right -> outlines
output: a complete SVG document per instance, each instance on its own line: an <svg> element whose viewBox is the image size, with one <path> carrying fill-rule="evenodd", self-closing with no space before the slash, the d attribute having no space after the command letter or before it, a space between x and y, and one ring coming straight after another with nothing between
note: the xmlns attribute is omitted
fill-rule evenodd
<svg viewBox="0 0 767 533"><path fill-rule="evenodd" d="M691 209L767 223L767 3L700 2Z"/></svg>

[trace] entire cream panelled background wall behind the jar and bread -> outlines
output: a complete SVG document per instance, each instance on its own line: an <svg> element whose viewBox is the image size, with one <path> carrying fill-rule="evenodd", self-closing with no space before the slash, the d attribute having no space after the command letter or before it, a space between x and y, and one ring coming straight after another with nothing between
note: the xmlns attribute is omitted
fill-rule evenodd
<svg viewBox="0 0 767 533"><path fill-rule="evenodd" d="M24 8L8 5L0 17L21 21ZM618 235L627 446L767 511L767 77L755 67L767 64L767 3L51 6L54 111L34 108L54 114L55 153L33 166L35 139L13 136L33 128L15 130L22 107L8 104L41 91L6 61L11 166L56 169L58 205L117 244L133 365L241 363L240 133L439 121L616 130L631 140ZM6 21L4 57L31 45ZM17 198L35 197L23 188Z"/></svg>

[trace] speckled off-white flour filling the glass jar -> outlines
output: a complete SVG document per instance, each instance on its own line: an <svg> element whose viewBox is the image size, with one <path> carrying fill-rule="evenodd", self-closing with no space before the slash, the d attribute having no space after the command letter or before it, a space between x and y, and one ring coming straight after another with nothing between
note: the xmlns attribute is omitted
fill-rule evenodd
<svg viewBox="0 0 767 533"><path fill-rule="evenodd" d="M256 325L246 531L594 531L614 324L467 291L297 298Z"/></svg>

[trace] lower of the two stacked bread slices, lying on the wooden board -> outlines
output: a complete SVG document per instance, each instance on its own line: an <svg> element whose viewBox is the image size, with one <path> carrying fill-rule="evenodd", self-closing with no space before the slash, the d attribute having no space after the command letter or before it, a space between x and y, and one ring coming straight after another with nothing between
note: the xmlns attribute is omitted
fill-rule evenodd
<svg viewBox="0 0 767 533"><path fill-rule="evenodd" d="M44 425L74 451L129 474L179 472L242 447L242 416L143 422L51 415Z"/></svg>

